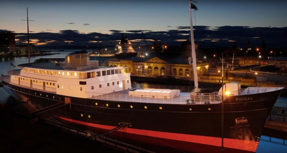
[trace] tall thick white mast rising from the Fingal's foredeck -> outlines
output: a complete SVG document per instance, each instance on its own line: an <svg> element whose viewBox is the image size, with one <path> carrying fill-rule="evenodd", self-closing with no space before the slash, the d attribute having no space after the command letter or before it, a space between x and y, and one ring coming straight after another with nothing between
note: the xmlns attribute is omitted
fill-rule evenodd
<svg viewBox="0 0 287 153"><path fill-rule="evenodd" d="M193 24L192 24L192 15L191 9L197 10L196 6L191 4L192 0L187 0L188 10L189 10L189 20L190 20L190 39L191 39L191 51L192 51L192 66L193 66L193 78L194 78L194 91L198 92L198 80L197 80L197 68L196 68L196 54L194 46L194 37L193 37ZM194 1L197 3L197 1Z"/></svg>

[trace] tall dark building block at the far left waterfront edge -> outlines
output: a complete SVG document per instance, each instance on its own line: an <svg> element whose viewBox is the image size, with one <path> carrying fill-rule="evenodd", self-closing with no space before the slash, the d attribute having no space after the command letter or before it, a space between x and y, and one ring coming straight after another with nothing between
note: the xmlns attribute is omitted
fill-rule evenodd
<svg viewBox="0 0 287 153"><path fill-rule="evenodd" d="M15 33L0 32L0 52L10 53L15 51Z"/></svg>

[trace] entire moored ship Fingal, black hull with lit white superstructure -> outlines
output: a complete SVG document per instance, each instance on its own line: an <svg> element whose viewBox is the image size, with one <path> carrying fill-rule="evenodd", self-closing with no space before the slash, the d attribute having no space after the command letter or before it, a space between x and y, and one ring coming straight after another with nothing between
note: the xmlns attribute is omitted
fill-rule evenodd
<svg viewBox="0 0 287 153"><path fill-rule="evenodd" d="M194 44L192 52L195 59ZM155 152L256 152L283 90L222 82L218 92L201 93L196 60L189 92L133 88L125 68L99 66L87 51L67 54L65 62L18 68L2 74L1 85L33 112L65 104L68 109L54 112L53 119Z"/></svg>

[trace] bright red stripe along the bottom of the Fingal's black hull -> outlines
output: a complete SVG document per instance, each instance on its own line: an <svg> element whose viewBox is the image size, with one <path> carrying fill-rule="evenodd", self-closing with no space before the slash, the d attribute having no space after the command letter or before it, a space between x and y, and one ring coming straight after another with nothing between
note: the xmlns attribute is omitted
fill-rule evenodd
<svg viewBox="0 0 287 153"><path fill-rule="evenodd" d="M82 125L105 129L105 130L111 130L115 128L114 126L87 123L87 122L77 121L77 120L64 118L60 116L57 116L57 117L60 119L66 120L66 121L77 123L77 124L82 124ZM131 134L136 134L136 135L145 135L145 136L152 136L152 137L157 137L157 138L186 141L186 142L191 142L191 143L200 143L200 144L221 147L221 138L216 138L216 137L187 135L187 134L159 132L159 131L150 131L150 130L143 130L143 129L132 129L132 128L123 128L123 129L119 129L118 131L127 132ZM256 141L224 138L224 147L245 150L245 151L250 151L250 152L256 151L258 143L259 142L256 142Z"/></svg>

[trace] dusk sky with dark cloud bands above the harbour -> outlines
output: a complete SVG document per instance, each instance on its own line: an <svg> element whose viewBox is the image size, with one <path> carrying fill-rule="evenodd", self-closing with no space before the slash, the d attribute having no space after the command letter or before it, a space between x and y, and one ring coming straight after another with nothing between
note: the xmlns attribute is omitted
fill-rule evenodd
<svg viewBox="0 0 287 153"><path fill-rule="evenodd" d="M129 40L145 33L149 43L179 45L188 38L187 0L1 0L0 32L12 31L19 43L38 45L111 45L121 34ZM195 40L199 46L261 45L287 47L286 0L198 0L193 11ZM243 32L242 32L243 31ZM242 34L241 34L242 33ZM241 37L240 37L241 35Z"/></svg>

